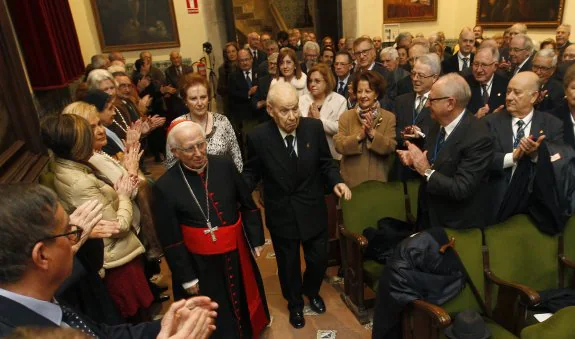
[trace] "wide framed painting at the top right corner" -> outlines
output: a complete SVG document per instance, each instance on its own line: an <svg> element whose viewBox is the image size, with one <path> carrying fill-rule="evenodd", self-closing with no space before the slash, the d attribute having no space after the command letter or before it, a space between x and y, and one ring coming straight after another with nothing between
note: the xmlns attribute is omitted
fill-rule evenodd
<svg viewBox="0 0 575 339"><path fill-rule="evenodd" d="M478 0L477 24L501 28L521 22L529 27L555 28L561 24L564 8L565 0Z"/></svg>

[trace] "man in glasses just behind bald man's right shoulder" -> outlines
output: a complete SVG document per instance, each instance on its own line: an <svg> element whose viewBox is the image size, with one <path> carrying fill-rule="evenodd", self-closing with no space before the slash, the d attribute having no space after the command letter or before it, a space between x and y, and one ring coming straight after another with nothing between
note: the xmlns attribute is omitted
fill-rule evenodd
<svg viewBox="0 0 575 339"><path fill-rule="evenodd" d="M535 108L543 112L551 112L559 106L565 97L563 84L555 79L558 56L552 49L542 49L535 53L531 70L537 74L541 87Z"/></svg>

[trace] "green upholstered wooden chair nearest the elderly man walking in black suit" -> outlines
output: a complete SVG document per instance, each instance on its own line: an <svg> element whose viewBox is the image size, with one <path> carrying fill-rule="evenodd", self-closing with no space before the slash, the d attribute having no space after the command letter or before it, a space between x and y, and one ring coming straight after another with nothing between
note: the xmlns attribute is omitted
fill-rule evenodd
<svg viewBox="0 0 575 339"><path fill-rule="evenodd" d="M341 257L344 271L342 299L358 320L369 322L367 308L373 299L365 300L365 285L377 289L383 265L364 260L368 241L362 235L367 227L391 217L406 221L405 195L402 182L364 182L352 189L352 199L342 201L343 225L340 225Z"/></svg>

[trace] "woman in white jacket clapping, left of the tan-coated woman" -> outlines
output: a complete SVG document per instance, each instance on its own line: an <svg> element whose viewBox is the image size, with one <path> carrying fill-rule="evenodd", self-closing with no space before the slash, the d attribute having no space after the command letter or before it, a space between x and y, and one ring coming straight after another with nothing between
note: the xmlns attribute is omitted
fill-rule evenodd
<svg viewBox="0 0 575 339"><path fill-rule="evenodd" d="M335 78L326 64L317 64L309 71L306 93L299 98L299 109L303 117L320 119L327 137L327 143L334 159L341 159L333 144L338 131L339 116L347 110L346 99L333 91Z"/></svg>

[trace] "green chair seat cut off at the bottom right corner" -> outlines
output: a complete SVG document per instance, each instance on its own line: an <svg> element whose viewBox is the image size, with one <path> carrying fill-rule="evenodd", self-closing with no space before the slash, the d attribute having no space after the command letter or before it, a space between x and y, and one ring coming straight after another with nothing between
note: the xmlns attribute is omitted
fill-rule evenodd
<svg viewBox="0 0 575 339"><path fill-rule="evenodd" d="M565 307L542 323L525 327L521 339L573 339L575 337L575 306Z"/></svg>

